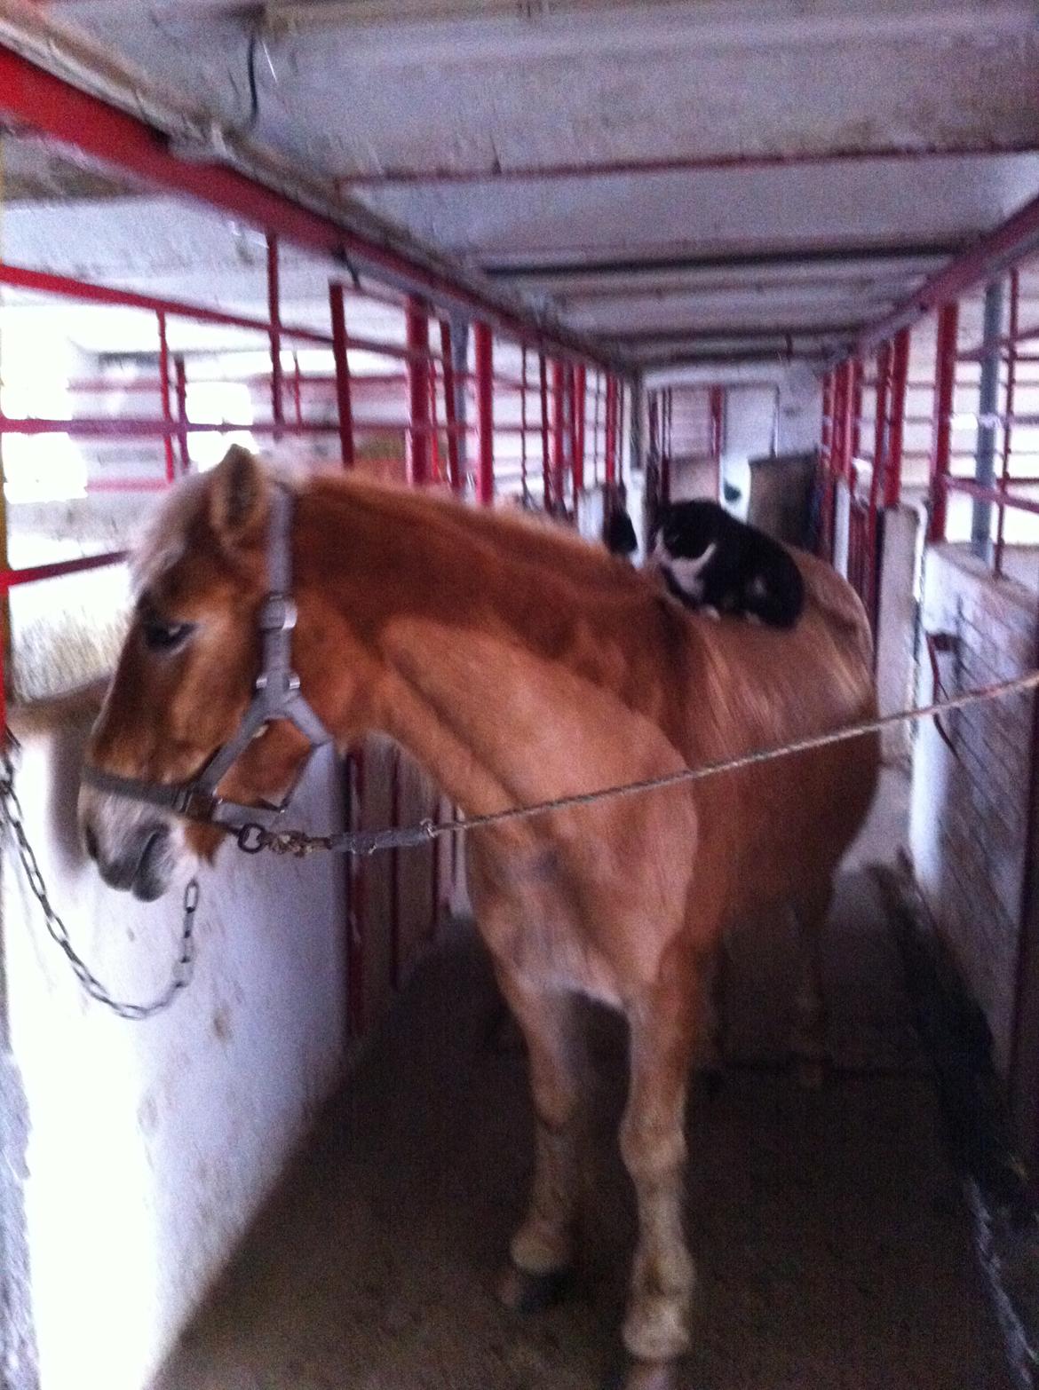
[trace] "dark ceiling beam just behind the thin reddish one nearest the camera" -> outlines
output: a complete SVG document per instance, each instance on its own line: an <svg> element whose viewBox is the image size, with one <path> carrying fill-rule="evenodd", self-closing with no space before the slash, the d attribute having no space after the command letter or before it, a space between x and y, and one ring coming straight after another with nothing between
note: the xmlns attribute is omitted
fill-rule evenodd
<svg viewBox="0 0 1039 1390"><path fill-rule="evenodd" d="M485 260L483 272L491 279L549 281L566 279L567 275L659 275L668 271L697 270L754 270L768 265L848 265L853 261L876 261L878 264L899 264L907 260L942 261L963 249L960 242L932 242L907 246L878 246L875 243L848 246L807 246L776 247L755 252L708 252L702 254L662 257L626 257L611 260L573 261L508 261Z"/></svg>

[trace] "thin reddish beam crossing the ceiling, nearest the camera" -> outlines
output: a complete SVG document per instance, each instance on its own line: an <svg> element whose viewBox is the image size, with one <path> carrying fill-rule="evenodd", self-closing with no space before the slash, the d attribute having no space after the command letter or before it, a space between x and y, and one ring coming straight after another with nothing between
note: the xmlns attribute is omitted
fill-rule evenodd
<svg viewBox="0 0 1039 1390"><path fill-rule="evenodd" d="M388 168L341 174L335 183L344 192L362 188L413 186L421 183L524 183L559 179L629 178L652 174L702 174L715 170L762 170L787 165L850 164L875 160L918 161L978 156L1035 154L1036 140L976 140L942 145L836 146L826 150L761 150L732 154L675 154L657 158L604 160L591 164L480 165L474 168Z"/></svg>

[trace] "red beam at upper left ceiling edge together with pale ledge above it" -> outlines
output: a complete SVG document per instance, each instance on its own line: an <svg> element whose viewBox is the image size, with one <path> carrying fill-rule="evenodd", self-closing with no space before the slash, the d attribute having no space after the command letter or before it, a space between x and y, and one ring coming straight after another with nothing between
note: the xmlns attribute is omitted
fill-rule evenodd
<svg viewBox="0 0 1039 1390"><path fill-rule="evenodd" d="M67 51L70 49L72 53ZM90 65L92 57L96 58L96 68ZM71 74L75 74L75 81ZM549 325L544 316L533 310L527 313L524 306L502 296L490 284L484 289L478 284L480 277L467 275L446 257L430 252L389 224L380 227L377 220L369 218L366 229L359 229L349 225L348 210L337 210L334 202L314 206L314 190L310 190L312 199L296 199L284 188L267 183L241 167L220 163L217 149L228 161L248 160L246 152L239 152L234 142L227 143L228 132L221 128L209 131L214 146L209 158L199 158L198 147L193 157L188 157L186 152L178 157L172 153L170 131L157 118L154 124L152 121L153 111L171 108L163 107L163 99L146 93L136 81L138 86L134 86L118 64L103 60L89 44L79 44L75 36L31 6L11 0L0 3L0 118L22 122L108 165L131 171L146 183L186 195L274 232L287 242L484 318L535 346L604 366L623 366L606 360L601 346L591 339L555 322ZM129 114L107 95L99 96L96 88L125 95L125 103L146 110L149 120ZM192 125L186 114L178 124L178 133ZM195 135L198 139L198 131ZM261 164L260 152L253 153L256 163ZM273 164L270 174L274 179ZM285 174L280 182L288 179ZM342 221L337 213L341 213Z"/></svg>

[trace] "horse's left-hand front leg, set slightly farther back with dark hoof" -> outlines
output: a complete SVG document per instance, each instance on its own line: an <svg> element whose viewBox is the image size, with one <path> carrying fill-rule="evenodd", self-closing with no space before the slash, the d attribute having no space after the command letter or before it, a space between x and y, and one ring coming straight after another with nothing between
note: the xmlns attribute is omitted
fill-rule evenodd
<svg viewBox="0 0 1039 1390"><path fill-rule="evenodd" d="M527 1311L559 1293L573 1259L584 1047L570 994L533 986L501 960L495 970L527 1042L534 1094L534 1182L499 1290Z"/></svg>

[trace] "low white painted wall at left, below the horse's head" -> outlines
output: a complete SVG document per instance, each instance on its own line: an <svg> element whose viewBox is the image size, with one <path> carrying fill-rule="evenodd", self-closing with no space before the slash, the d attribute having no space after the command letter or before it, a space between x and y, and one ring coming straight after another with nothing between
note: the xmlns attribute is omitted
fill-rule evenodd
<svg viewBox="0 0 1039 1390"><path fill-rule="evenodd" d="M90 717L21 720L18 788L76 948L114 992L146 999L177 952L179 894L136 903L83 862L74 817ZM338 806L325 762L299 815L328 827ZM4 847L42 1390L142 1390L341 1074L342 860L227 848L200 883L191 988L160 1017L125 1023L81 992Z"/></svg>

